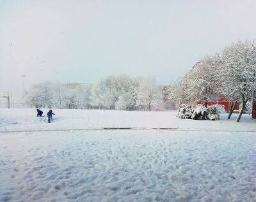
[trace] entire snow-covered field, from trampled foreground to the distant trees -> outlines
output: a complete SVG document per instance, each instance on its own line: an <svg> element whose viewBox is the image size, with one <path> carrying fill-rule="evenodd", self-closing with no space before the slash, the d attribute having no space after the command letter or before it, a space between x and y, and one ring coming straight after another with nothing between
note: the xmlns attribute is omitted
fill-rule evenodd
<svg viewBox="0 0 256 202"><path fill-rule="evenodd" d="M48 124L35 110L0 109L0 201L256 201L248 115L236 123L227 115L53 112Z"/></svg>

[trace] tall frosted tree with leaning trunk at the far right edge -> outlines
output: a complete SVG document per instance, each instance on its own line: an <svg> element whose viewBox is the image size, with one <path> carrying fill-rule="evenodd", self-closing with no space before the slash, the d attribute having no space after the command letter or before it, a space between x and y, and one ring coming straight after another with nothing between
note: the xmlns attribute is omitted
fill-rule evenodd
<svg viewBox="0 0 256 202"><path fill-rule="evenodd" d="M239 122L248 101L256 93L256 45L253 41L238 41L226 47L222 55L219 76L221 91L241 103L236 121Z"/></svg>

